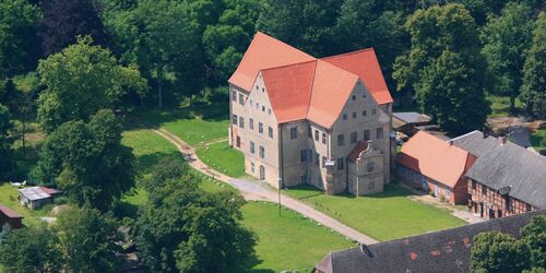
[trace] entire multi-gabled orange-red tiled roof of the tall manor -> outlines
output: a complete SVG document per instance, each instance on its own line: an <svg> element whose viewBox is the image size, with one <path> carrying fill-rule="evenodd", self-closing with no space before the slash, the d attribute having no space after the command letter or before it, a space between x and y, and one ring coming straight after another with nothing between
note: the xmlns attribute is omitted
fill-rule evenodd
<svg viewBox="0 0 546 273"><path fill-rule="evenodd" d="M307 118L330 128L358 79L378 104L392 103L372 49L317 60L257 33L228 82L250 92L259 72L278 123Z"/></svg>

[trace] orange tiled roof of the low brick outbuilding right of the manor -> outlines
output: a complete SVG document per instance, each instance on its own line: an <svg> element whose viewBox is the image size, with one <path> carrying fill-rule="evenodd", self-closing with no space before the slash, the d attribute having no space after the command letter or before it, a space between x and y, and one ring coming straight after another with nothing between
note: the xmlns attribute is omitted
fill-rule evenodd
<svg viewBox="0 0 546 273"><path fill-rule="evenodd" d="M396 156L399 164L451 188L474 161L468 152L423 131L411 138Z"/></svg>

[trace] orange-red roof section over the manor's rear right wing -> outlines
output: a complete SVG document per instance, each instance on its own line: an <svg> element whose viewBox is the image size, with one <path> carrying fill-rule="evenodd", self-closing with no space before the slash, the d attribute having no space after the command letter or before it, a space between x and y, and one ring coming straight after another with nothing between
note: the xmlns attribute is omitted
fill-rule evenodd
<svg viewBox="0 0 546 273"><path fill-rule="evenodd" d="M327 57L321 60L358 75L377 104L392 103L391 94L384 82L373 48Z"/></svg>

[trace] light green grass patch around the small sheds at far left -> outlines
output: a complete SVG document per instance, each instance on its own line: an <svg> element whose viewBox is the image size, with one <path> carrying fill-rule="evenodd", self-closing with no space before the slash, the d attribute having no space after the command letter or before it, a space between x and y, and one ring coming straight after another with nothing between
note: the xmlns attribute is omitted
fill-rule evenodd
<svg viewBox="0 0 546 273"><path fill-rule="evenodd" d="M0 183L0 204L8 206L9 209L19 212L23 215L24 225L36 225L41 221L39 217L50 216L51 205L44 205L40 210L29 210L26 206L22 206L17 200L19 192L17 188L11 186L10 183Z"/></svg>

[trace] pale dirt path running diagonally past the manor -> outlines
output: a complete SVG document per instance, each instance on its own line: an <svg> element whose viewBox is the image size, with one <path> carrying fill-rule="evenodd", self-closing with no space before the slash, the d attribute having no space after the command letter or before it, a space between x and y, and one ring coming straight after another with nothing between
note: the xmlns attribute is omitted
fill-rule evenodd
<svg viewBox="0 0 546 273"><path fill-rule="evenodd" d="M210 168L201 162L198 156L195 155L195 150L180 140L178 136L175 134L164 130L164 129L158 129L155 126L141 121L141 120L135 120L136 122L146 126L150 128L152 131L155 133L159 134L164 139L168 140L170 143L176 145L178 151L183 155L186 161L197 170L214 177L215 179L218 179L223 182L226 182L234 188L238 189L239 192L242 194L242 197L246 200L261 200L261 201L268 201L268 202L278 202L278 194L274 190L271 189L264 181L256 181L256 180L250 180L250 179L237 179L233 178L229 176L226 176L219 171L216 171L215 169ZM300 214L302 214L306 217L309 217L318 223L320 223L323 226L330 227L333 230L340 233L341 235L351 238L354 241L360 242L360 244L375 244L378 242L377 240L370 238L369 236L366 236L352 227L348 227L341 222L330 217L329 215L317 211L316 209L311 207L308 204L305 204L301 201L298 201L294 198L287 197L285 194L282 194L281 197L281 203L293 210L296 211Z"/></svg>

